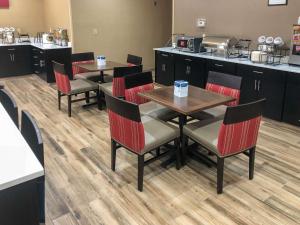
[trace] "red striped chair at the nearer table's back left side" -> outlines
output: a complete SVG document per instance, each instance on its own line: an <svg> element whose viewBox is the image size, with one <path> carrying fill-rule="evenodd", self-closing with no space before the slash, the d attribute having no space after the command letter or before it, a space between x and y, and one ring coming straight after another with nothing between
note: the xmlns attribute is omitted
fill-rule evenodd
<svg viewBox="0 0 300 225"><path fill-rule="evenodd" d="M140 92L153 89L152 72L137 73L125 77L125 99L138 104L143 115L163 121L169 121L178 117L179 114L177 112L139 96Z"/></svg>

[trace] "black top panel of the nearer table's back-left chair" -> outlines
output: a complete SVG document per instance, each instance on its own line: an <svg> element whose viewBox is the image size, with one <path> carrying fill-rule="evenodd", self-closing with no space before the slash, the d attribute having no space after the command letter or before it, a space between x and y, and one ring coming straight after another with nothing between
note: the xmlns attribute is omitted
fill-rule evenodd
<svg viewBox="0 0 300 225"><path fill-rule="evenodd" d="M136 73L125 77L125 89L130 89L152 83L152 72Z"/></svg>

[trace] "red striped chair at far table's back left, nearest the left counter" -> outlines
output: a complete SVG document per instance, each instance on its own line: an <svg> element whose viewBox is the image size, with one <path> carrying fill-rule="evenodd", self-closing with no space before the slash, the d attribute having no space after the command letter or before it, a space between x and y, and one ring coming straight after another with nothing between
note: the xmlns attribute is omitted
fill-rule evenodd
<svg viewBox="0 0 300 225"><path fill-rule="evenodd" d="M93 52L83 52L72 54L72 71L74 79L88 79L94 82L99 82L101 80L100 72L89 71L83 69L78 64L89 64L94 63L95 56Z"/></svg>

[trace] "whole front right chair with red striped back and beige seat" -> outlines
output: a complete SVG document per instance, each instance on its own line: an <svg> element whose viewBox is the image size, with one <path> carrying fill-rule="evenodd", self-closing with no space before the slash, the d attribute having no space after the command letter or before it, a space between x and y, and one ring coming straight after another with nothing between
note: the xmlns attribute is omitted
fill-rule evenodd
<svg viewBox="0 0 300 225"><path fill-rule="evenodd" d="M254 175L255 148L265 99L229 106L223 120L212 118L184 127L184 142L195 141L217 156L217 192L223 192L224 160L245 153L249 156L249 179ZM184 155L186 147L184 147Z"/></svg>

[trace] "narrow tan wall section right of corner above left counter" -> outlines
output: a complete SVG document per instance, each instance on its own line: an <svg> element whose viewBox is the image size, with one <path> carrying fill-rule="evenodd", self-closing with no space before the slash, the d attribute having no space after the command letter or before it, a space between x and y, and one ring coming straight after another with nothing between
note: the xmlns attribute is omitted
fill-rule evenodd
<svg viewBox="0 0 300 225"><path fill-rule="evenodd" d="M71 0L43 0L44 1L44 18L45 31L55 28L68 29L71 36Z"/></svg>

